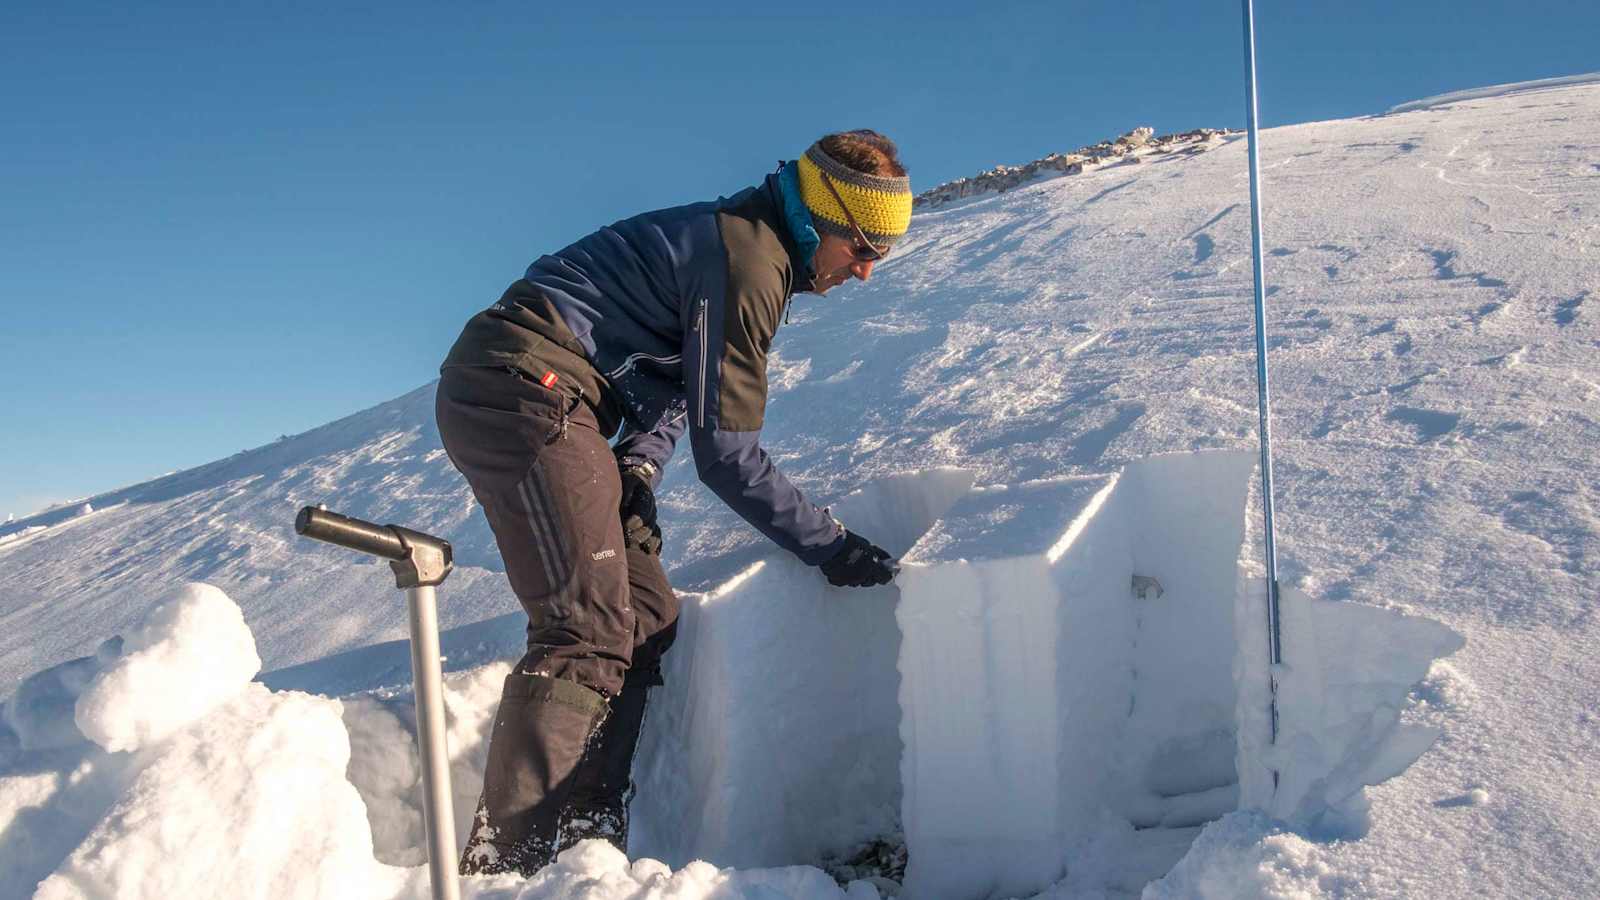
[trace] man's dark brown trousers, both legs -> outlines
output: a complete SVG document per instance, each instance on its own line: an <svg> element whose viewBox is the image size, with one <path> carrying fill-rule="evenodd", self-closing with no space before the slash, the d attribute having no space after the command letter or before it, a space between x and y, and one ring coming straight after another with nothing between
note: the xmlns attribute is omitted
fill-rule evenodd
<svg viewBox="0 0 1600 900"><path fill-rule="evenodd" d="M533 874L590 836L626 850L634 748L678 615L661 559L626 546L616 460L576 394L451 367L435 416L528 613L461 870Z"/></svg>

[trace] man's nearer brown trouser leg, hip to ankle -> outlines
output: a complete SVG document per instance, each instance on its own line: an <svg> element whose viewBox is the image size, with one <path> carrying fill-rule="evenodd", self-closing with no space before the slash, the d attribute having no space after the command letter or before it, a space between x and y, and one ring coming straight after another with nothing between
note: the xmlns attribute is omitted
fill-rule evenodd
<svg viewBox="0 0 1600 900"><path fill-rule="evenodd" d="M574 772L634 653L621 482L587 410L514 375L448 370L437 415L528 612L461 871L531 874L552 858Z"/></svg>

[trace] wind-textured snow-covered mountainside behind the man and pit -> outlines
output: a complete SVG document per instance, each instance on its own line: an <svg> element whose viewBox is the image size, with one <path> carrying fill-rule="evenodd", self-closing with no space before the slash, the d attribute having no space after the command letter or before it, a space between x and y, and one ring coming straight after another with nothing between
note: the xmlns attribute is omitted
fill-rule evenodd
<svg viewBox="0 0 1600 900"><path fill-rule="evenodd" d="M1466 647L1398 711L1442 737L1368 790L1368 822L1298 836L1230 817L1149 895L1573 897L1600 882L1595 135L1592 83L1262 135L1283 572L1320 601L1442 621ZM768 447L821 501L939 466L1014 485L1253 448L1243 154L1234 136L918 213L870 283L795 304ZM373 647L403 637L387 570L290 530L317 501L451 538L450 668L510 653L517 607L430 397L0 527L0 692L94 653L186 580L238 601L269 685L405 681L403 647ZM682 589L766 554L686 460L667 488ZM1338 657L1317 665L1341 677ZM395 733L366 706L344 716L358 756L358 735ZM27 798L51 796L40 785ZM371 809L378 788L357 786ZM27 798L0 806L0 847L26 818L10 810L48 806ZM379 858L414 862L403 834L374 838ZM1130 887L1091 868L1069 863L1051 895Z"/></svg>

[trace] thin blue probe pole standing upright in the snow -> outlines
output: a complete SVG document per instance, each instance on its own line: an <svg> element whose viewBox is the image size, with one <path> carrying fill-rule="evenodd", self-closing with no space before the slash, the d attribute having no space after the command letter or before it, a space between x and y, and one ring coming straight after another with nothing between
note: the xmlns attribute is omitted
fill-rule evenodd
<svg viewBox="0 0 1600 900"><path fill-rule="evenodd" d="M1278 666L1283 665L1283 637L1278 625L1278 543L1272 522L1272 418L1267 392L1267 299L1261 243L1261 136L1256 127L1256 11L1245 3L1245 127L1250 131L1250 256L1256 283L1256 405L1261 412L1261 506L1267 528L1267 653L1272 685L1272 743L1278 743ZM1278 770L1272 769L1272 786Z"/></svg>

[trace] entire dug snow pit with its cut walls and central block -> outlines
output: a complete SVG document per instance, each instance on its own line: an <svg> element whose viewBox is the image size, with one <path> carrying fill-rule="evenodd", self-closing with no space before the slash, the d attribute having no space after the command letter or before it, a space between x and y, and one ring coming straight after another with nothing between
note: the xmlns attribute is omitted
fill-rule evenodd
<svg viewBox="0 0 1600 900"><path fill-rule="evenodd" d="M685 605L630 852L816 863L904 830L909 897L976 898L1096 871L1136 890L1242 804L1349 833L1362 786L1432 741L1398 708L1458 639L1371 607L1304 612L1285 591L1310 687L1280 682L1334 700L1285 719L1314 749L1261 793L1288 733L1274 748L1261 732L1266 601L1240 569L1253 471L1253 453L1216 452L1021 485L949 469L867 485L838 509L902 554L896 585L835 591L774 552Z"/></svg>

